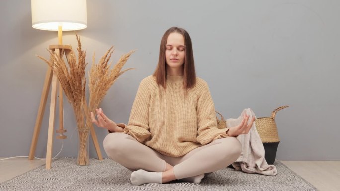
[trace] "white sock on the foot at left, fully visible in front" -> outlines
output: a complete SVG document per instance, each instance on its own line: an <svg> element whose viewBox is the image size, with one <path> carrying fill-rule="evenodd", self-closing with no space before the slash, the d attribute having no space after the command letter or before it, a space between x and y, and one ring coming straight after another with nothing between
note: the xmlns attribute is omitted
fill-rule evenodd
<svg viewBox="0 0 340 191"><path fill-rule="evenodd" d="M146 183L162 183L162 172L148 172L139 169L131 173L130 180L133 185L143 185Z"/></svg>

